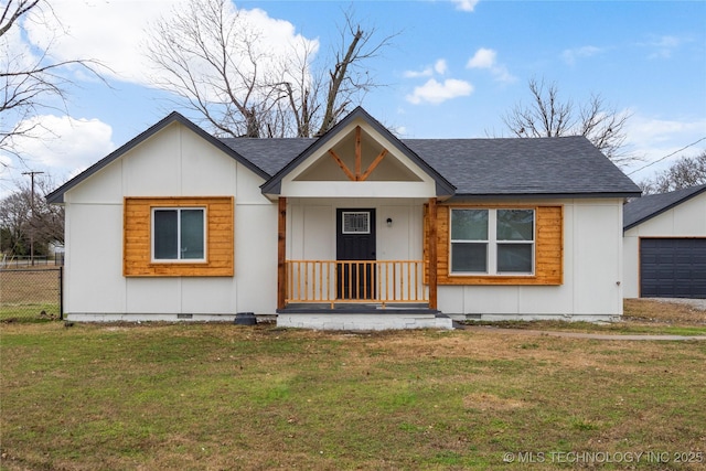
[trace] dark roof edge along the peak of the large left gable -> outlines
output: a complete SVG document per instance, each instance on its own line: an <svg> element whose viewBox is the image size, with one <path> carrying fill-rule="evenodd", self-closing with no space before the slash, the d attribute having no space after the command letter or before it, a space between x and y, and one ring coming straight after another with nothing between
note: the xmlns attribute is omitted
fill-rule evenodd
<svg viewBox="0 0 706 471"><path fill-rule="evenodd" d="M63 185L61 185L60 188L57 188L56 190L54 190L53 192L47 194L46 195L46 201L49 203L63 203L64 202L64 194L68 190L73 189L74 186L76 186L77 184L83 182L84 180L90 178L94 173L98 172L103 168L107 167L109 163L111 163L115 160L119 159L120 157L122 157L124 154L129 152L130 150L135 149L136 147L138 147L142 142L147 141L148 139L150 139L154 135L159 133L164 128L167 128L167 127L169 127L169 126L171 126L172 124L175 124L175 122L178 122L180 125L183 125L184 127L189 128L190 130L192 130L193 132L199 135L201 138L203 138L204 140L208 141L211 144L215 146L216 148L223 150L227 156L229 156L231 158L233 158L233 159L237 160L238 162L243 163L245 167L247 167L248 169L250 169L253 172L255 172L256 174L260 175L261 178L264 178L264 179L268 179L269 178L269 174L267 172L265 172L264 170L261 170L260 168L255 165L249 160L245 159L243 156L240 156L234 149L232 149L231 147L226 146L223 141L221 141L220 139L211 136L210 133L207 133L206 131L201 129L199 126L194 125L192 121L190 121L189 119L183 117L181 114L179 114L176 111L172 111L169 116L167 116L165 118L161 119L156 125L149 127L147 130L145 130L143 132L139 133L138 136L136 136L133 139L128 141L124 146L121 146L118 149L116 149L115 151L110 152L108 156L106 156L105 158L100 159L99 161L97 161L96 163L90 165L88 169L86 169L85 171L83 171L78 175L74 176L73 179L71 179L69 181L67 181L66 183L64 183Z"/></svg>

